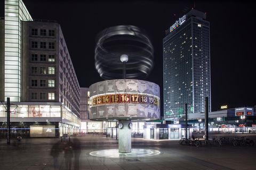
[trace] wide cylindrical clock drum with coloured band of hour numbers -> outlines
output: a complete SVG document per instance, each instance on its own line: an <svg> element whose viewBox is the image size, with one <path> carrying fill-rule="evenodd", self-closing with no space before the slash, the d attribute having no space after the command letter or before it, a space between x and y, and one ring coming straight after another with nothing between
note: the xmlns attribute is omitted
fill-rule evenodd
<svg viewBox="0 0 256 170"><path fill-rule="evenodd" d="M90 119L156 120L160 115L159 96L159 86L145 80L114 79L94 83L90 86Z"/></svg>

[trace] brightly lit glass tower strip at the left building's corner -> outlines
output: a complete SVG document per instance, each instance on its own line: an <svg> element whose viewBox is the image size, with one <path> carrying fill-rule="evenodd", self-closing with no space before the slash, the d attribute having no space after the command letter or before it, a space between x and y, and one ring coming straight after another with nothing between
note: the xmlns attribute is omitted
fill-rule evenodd
<svg viewBox="0 0 256 170"><path fill-rule="evenodd" d="M21 0L5 0L4 100L21 98L21 21L33 20Z"/></svg>

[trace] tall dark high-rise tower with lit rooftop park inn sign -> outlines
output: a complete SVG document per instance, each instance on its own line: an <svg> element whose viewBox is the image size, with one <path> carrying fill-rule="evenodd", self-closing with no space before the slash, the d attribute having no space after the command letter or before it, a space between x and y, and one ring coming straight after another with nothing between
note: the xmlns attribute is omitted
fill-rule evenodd
<svg viewBox="0 0 256 170"><path fill-rule="evenodd" d="M206 14L191 10L179 18L163 39L164 118L211 111L210 23Z"/></svg>

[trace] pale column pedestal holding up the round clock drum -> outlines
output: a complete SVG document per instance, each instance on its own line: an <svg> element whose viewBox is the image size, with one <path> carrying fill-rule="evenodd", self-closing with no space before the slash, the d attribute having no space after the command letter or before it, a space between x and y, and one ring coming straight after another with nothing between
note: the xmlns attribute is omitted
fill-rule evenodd
<svg viewBox="0 0 256 170"><path fill-rule="evenodd" d="M132 129L129 127L131 120L118 120L123 127L118 128L118 151L122 153L131 152L132 150Z"/></svg>

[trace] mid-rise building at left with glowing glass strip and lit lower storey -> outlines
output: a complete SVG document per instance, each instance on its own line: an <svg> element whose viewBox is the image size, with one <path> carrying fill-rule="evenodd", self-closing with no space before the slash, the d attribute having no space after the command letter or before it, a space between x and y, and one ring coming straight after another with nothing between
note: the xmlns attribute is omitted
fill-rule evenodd
<svg viewBox="0 0 256 170"><path fill-rule="evenodd" d="M1 101L10 98L13 104L12 135L79 133L80 87L60 25L33 20L21 0L5 1L0 34L0 94ZM0 106L1 136L6 128L5 104Z"/></svg>

